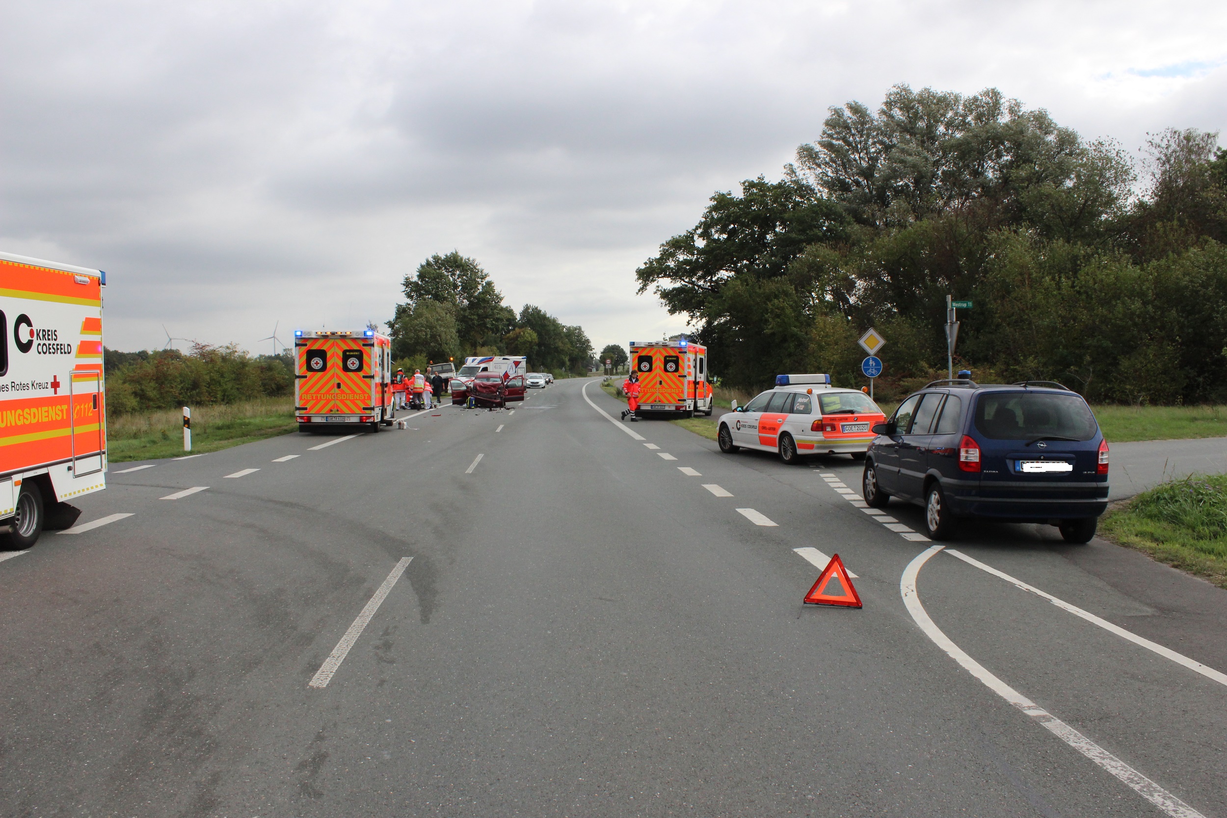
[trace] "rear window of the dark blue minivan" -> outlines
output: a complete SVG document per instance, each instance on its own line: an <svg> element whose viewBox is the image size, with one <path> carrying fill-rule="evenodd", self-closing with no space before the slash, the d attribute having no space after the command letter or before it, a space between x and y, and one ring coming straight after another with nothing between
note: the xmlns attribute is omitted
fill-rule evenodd
<svg viewBox="0 0 1227 818"><path fill-rule="evenodd" d="M989 393L975 403L975 430L991 440L1091 440L1098 429L1076 394Z"/></svg>

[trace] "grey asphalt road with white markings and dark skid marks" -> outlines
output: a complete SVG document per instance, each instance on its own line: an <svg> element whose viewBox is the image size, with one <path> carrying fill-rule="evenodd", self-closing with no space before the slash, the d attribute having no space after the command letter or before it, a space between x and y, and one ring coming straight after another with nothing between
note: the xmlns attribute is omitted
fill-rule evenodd
<svg viewBox="0 0 1227 818"><path fill-rule="evenodd" d="M584 383L117 465L0 561L0 814L1227 816L1227 593Z"/></svg>

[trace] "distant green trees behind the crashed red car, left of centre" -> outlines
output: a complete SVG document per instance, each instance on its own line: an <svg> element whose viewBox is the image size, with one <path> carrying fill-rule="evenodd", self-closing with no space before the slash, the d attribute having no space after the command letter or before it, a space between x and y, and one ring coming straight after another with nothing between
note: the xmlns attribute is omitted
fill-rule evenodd
<svg viewBox="0 0 1227 818"><path fill-rule="evenodd" d="M406 370L470 355L526 355L533 370L582 373L593 345L582 327L568 327L541 307L519 314L503 303L476 259L452 251L422 262L401 282L405 302L388 322L393 357Z"/></svg>

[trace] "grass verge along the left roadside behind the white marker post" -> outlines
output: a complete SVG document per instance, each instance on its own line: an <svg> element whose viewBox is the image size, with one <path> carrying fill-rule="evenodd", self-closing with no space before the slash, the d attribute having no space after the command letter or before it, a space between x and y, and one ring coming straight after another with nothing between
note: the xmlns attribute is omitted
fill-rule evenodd
<svg viewBox="0 0 1227 818"><path fill-rule="evenodd" d="M191 453L216 452L297 431L294 400L260 398L191 410ZM112 463L179 457L183 410L166 409L107 419L107 459Z"/></svg>

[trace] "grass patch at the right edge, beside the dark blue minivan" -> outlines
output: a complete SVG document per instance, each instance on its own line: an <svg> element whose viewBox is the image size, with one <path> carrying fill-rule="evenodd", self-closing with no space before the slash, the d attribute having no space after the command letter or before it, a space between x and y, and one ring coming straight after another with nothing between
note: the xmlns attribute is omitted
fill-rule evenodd
<svg viewBox="0 0 1227 818"><path fill-rule="evenodd" d="M1110 508L1099 534L1227 588L1227 474L1144 491Z"/></svg>

